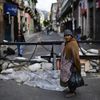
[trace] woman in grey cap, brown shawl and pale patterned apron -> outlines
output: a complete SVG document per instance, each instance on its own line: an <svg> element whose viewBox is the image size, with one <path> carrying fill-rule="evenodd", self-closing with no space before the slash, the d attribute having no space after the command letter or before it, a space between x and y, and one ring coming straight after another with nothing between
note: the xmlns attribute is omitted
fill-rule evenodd
<svg viewBox="0 0 100 100"><path fill-rule="evenodd" d="M80 68L80 58L79 58L79 48L76 39L73 37L71 30L64 31L65 44L61 54L61 74L60 74L60 84L61 86L69 88L66 97L74 96L76 87L70 87L68 81L71 77L72 68L75 68L79 73Z"/></svg>

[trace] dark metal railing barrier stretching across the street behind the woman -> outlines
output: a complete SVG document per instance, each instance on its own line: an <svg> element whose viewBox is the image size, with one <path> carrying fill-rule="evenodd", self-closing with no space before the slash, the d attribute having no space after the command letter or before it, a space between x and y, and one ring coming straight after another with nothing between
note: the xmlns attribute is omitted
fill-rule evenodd
<svg viewBox="0 0 100 100"><path fill-rule="evenodd" d="M50 56L41 56L42 58L53 58L53 69L55 69L55 62L56 62L56 58L60 58L60 55L56 54L54 52L54 46L55 45L61 45L64 41L41 41L41 42L36 42L36 43L26 43L26 42L2 42L0 43L0 45L52 45L52 50L50 51ZM78 41L78 43L92 43L92 44L100 44L100 41ZM30 57L30 59L32 58L32 56ZM80 58L81 59L87 59L87 60L90 60L90 59L100 59L100 54L98 55L80 55ZM22 60L22 62L36 62L36 61L31 61L30 59L28 60ZM9 61L18 61L18 60L10 60L6 57L0 57L0 60L9 60Z"/></svg>

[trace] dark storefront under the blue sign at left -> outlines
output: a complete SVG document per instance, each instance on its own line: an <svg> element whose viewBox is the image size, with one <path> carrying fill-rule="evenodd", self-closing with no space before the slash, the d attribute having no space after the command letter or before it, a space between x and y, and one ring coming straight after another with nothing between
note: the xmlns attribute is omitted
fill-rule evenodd
<svg viewBox="0 0 100 100"><path fill-rule="evenodd" d="M5 40L14 41L15 24L17 24L17 10L18 8L15 4L4 4Z"/></svg>

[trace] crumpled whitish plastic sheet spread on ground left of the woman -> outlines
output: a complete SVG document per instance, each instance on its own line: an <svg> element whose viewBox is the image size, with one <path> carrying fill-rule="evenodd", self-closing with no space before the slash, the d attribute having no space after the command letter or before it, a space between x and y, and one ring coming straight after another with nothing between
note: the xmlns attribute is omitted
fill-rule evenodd
<svg viewBox="0 0 100 100"><path fill-rule="evenodd" d="M47 90L63 91L64 88L59 84L59 71L13 71L9 74L0 74L0 79L3 80L15 80L18 83L27 84L33 87L39 87Z"/></svg>

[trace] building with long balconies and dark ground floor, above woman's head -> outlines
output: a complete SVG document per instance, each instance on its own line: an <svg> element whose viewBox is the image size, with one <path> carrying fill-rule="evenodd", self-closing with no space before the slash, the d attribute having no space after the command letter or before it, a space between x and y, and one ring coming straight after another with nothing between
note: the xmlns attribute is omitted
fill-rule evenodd
<svg viewBox="0 0 100 100"><path fill-rule="evenodd" d="M57 12L57 18L58 21L60 22L61 31L63 31L65 28L69 28L71 30L75 29L76 27L75 17L78 18L77 17L78 2L79 0L61 0L61 1L58 0L59 12Z"/></svg>

